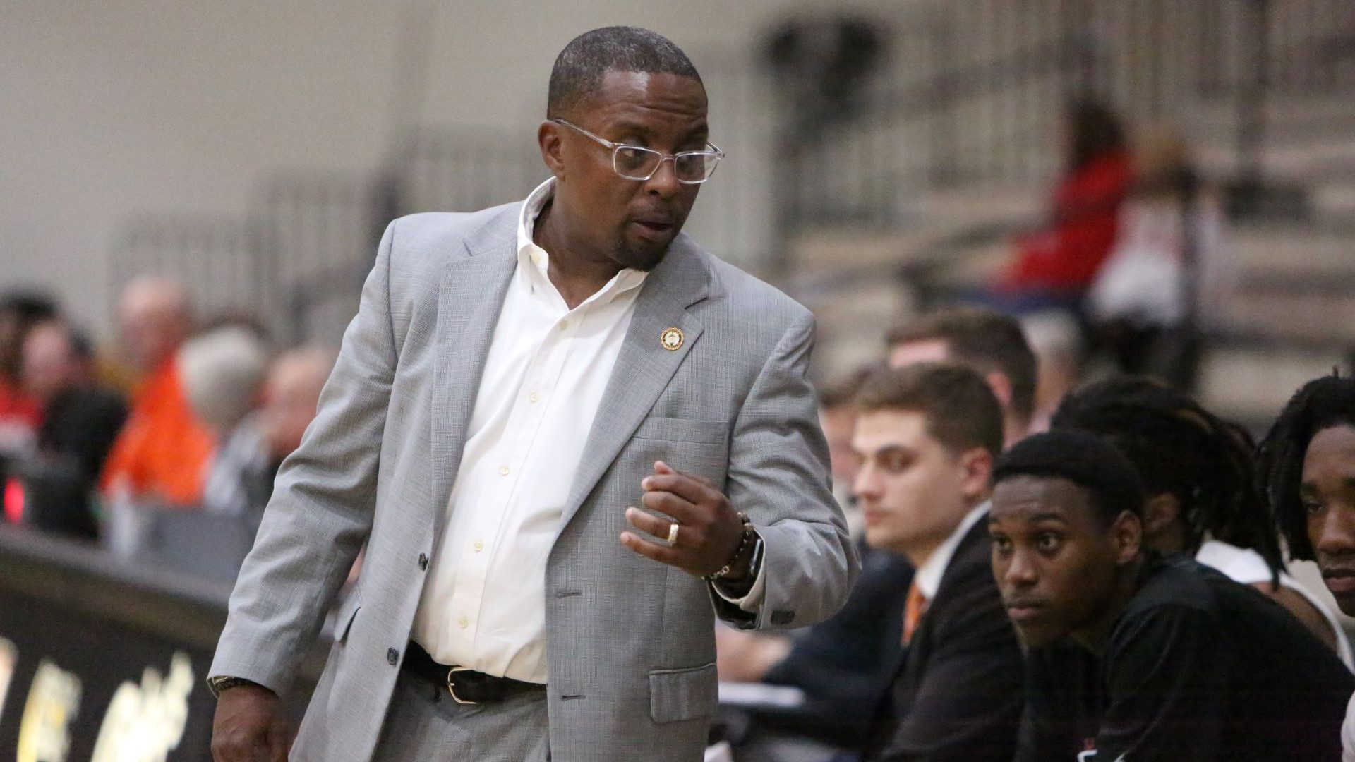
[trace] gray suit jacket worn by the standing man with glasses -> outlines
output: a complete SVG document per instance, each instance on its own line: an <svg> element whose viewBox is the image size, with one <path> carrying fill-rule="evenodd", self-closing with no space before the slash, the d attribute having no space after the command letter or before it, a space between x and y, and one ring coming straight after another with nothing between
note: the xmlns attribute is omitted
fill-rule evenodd
<svg viewBox="0 0 1355 762"><path fill-rule="evenodd" d="M516 266L520 207L386 229L318 416L278 475L211 675L286 689L367 542L293 759L371 757ZM660 346L669 327L686 336L678 351ZM701 759L714 616L801 626L847 598L858 565L805 378L812 344L805 308L687 236L645 281L547 561L553 759ZM656 460L722 484L757 526L756 616L618 541Z"/></svg>

